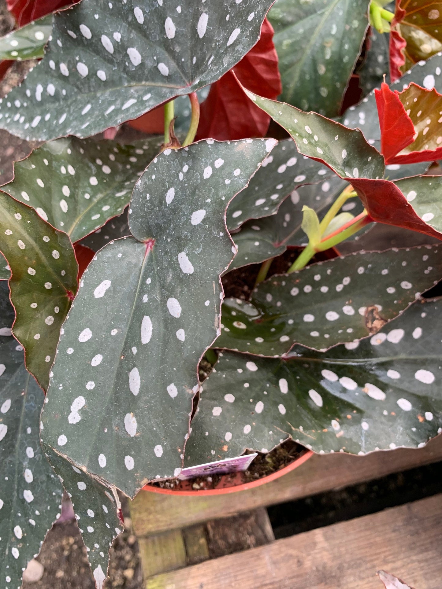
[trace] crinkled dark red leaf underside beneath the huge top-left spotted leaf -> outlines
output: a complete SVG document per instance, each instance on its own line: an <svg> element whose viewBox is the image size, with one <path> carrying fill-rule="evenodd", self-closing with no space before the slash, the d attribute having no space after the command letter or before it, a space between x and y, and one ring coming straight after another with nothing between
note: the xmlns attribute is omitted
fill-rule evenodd
<svg viewBox="0 0 442 589"><path fill-rule="evenodd" d="M212 84L200 108L197 140L212 137L220 141L262 137L270 117L244 94L238 80L252 92L265 98L276 98L282 92L278 55L273 45L273 28L267 19L255 47Z"/></svg>

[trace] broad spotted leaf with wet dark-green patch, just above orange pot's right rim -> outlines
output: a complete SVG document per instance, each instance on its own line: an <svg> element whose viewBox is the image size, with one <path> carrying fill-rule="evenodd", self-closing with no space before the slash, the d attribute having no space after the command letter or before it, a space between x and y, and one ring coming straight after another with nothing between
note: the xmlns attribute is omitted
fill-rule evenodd
<svg viewBox="0 0 442 589"><path fill-rule="evenodd" d="M419 301L371 339L322 354L223 352L204 382L184 465L267 452L289 436L319 453L425 445L442 431L440 305Z"/></svg>

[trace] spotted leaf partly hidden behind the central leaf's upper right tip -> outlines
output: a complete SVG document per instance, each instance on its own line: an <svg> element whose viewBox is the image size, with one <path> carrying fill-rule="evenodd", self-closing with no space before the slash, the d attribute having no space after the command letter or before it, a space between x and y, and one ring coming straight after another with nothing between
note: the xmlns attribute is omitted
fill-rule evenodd
<svg viewBox="0 0 442 589"><path fill-rule="evenodd" d="M233 231L248 219L273 215L293 190L334 176L326 166L300 155L292 139L279 141L251 178L249 186L230 203L227 229Z"/></svg>

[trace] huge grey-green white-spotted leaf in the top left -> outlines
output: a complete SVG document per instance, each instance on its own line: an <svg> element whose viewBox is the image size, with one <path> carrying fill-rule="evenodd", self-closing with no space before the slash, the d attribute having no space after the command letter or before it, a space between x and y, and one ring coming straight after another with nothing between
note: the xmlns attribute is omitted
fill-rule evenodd
<svg viewBox="0 0 442 589"><path fill-rule="evenodd" d="M86 0L55 14L45 57L0 101L25 139L88 137L212 84L255 45L272 0Z"/></svg>

